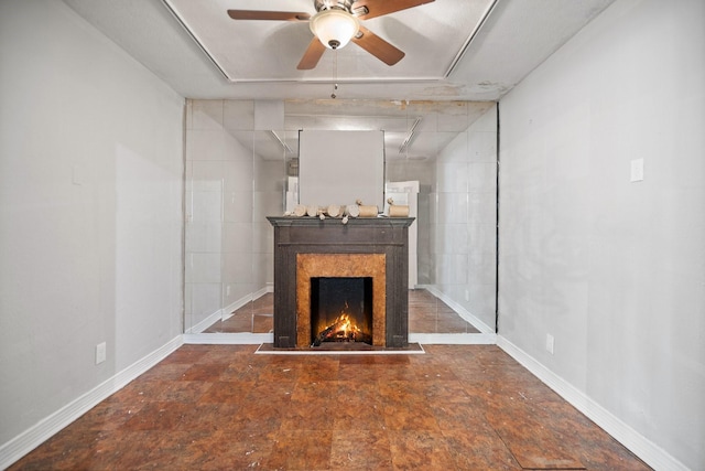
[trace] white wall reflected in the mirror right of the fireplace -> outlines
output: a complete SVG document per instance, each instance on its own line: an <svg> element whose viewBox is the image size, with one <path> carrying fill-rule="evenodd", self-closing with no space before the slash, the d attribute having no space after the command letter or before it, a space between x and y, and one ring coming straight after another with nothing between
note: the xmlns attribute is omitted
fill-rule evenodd
<svg viewBox="0 0 705 471"><path fill-rule="evenodd" d="M435 174L436 203L431 211L434 285L494 332L496 107L438 152Z"/></svg>

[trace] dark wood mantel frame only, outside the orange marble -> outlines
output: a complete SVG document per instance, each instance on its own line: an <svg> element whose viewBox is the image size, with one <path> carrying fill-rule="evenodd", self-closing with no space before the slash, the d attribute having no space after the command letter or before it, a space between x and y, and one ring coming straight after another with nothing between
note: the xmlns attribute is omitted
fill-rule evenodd
<svg viewBox="0 0 705 471"><path fill-rule="evenodd" d="M386 346L409 344L409 226L413 217L268 217L274 226L274 347L296 347L297 254L383 254Z"/></svg>

